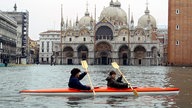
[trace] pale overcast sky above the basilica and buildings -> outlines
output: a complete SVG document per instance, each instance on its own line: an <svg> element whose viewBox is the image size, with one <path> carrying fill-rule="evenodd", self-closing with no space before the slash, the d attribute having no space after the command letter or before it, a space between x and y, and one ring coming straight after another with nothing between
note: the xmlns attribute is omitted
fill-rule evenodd
<svg viewBox="0 0 192 108"><path fill-rule="evenodd" d="M100 16L104 7L109 6L111 0L0 0L1 11L13 11L14 4L17 4L17 11L29 11L29 36L38 40L39 34L47 30L59 30L61 21L61 4L63 4L64 20L75 21L80 19L86 11L88 2L89 13L94 17L96 5L96 16ZM116 0L113 0L116 1ZM138 19L144 15L147 0L118 0L121 8L128 13L133 13L135 25ZM168 0L148 0L150 14L156 18L157 25L167 25L168 21ZM98 21L98 19L97 19Z"/></svg>

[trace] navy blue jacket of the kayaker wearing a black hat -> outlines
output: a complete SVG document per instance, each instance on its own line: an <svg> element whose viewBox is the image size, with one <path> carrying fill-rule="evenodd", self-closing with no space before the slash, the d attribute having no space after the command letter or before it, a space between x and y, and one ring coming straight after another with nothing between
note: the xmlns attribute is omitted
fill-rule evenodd
<svg viewBox="0 0 192 108"><path fill-rule="evenodd" d="M90 90L91 89L90 87L81 84L81 82L79 81L79 80L83 79L83 77L86 74L87 73L83 72L82 74L79 75L79 78L76 78L74 76L70 76L68 86L70 88L75 88L75 89L80 89L80 90Z"/></svg>

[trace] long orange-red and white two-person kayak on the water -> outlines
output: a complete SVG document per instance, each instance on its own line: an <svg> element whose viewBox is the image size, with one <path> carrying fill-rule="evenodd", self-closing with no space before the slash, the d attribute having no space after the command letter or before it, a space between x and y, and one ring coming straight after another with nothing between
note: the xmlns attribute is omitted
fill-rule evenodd
<svg viewBox="0 0 192 108"><path fill-rule="evenodd" d="M138 95L175 95L179 93L179 88L160 88L160 87L133 87L137 91ZM104 96L122 96L122 95L134 95L131 88L117 89L109 87L95 87L96 95ZM37 90L22 90L21 94L29 95L64 95L64 96L91 96L92 90L78 90L72 88L52 88L52 89L37 89Z"/></svg>

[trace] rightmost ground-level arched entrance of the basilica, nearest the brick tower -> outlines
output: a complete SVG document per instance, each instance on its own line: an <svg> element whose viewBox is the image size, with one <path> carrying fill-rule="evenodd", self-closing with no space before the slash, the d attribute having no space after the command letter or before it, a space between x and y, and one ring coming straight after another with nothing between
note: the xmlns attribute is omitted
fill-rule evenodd
<svg viewBox="0 0 192 108"><path fill-rule="evenodd" d="M146 64L146 49L143 46L137 46L134 49L134 64L145 65Z"/></svg>

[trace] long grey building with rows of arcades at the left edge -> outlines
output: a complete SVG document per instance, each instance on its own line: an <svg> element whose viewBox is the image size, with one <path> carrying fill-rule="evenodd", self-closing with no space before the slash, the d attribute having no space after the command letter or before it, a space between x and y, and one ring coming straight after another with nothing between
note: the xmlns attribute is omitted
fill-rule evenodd
<svg viewBox="0 0 192 108"><path fill-rule="evenodd" d="M0 63L15 63L17 22L0 11Z"/></svg>

